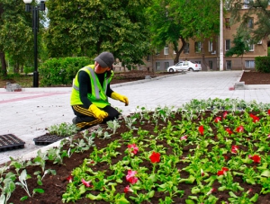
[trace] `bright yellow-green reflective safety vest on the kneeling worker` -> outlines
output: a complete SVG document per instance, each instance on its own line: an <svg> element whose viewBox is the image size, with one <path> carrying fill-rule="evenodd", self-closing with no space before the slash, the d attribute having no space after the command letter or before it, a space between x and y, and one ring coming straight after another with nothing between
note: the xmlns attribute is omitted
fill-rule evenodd
<svg viewBox="0 0 270 204"><path fill-rule="evenodd" d="M85 71L90 77L92 93L87 93L87 98L89 99L89 101L99 108L103 108L107 105L110 105L110 103L108 102L106 92L107 92L107 85L112 81L113 72L109 78L106 78L107 74L105 74L105 79L102 86L102 84L100 84L98 80L97 75L95 75L94 73L94 65L83 67L77 72L76 77L73 80L72 92L70 96L70 104L71 105L83 104L83 102L80 99L79 82L77 79L80 71Z"/></svg>

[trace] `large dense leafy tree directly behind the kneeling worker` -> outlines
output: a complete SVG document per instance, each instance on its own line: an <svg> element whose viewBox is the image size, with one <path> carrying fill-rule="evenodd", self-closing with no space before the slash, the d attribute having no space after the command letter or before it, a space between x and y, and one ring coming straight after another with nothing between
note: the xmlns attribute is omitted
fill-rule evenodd
<svg viewBox="0 0 270 204"><path fill-rule="evenodd" d="M53 0L47 2L50 57L111 51L129 69L148 55L147 0Z"/></svg>

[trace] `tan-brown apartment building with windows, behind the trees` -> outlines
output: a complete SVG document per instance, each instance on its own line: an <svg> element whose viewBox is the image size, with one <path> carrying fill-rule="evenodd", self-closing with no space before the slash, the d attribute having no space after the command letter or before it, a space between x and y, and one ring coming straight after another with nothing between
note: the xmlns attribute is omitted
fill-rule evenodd
<svg viewBox="0 0 270 204"><path fill-rule="evenodd" d="M247 1L247 0L244 0ZM247 4L243 5L240 13L247 12ZM247 26L253 28L257 16L250 18ZM267 56L267 40L260 40L256 44L250 44L249 51L240 57L225 57L226 50L233 47L233 35L236 34L239 23L230 24L230 13L223 16L223 70L252 70L255 69L255 58L257 56ZM181 42L179 42L181 46ZM204 56L204 58L202 58ZM166 71L167 67L174 65L175 53L170 45L157 52L156 55L148 56L145 59L145 66L140 66L139 70ZM220 70L220 36L213 40L194 41L188 40L184 51L181 53L179 61L190 60L200 63L202 71Z"/></svg>

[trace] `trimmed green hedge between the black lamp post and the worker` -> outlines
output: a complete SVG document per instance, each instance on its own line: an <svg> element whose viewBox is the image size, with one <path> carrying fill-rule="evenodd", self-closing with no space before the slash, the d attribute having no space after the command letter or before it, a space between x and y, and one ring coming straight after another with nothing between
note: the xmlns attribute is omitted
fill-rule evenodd
<svg viewBox="0 0 270 204"><path fill-rule="evenodd" d="M40 66L40 85L72 84L76 72L87 65L94 64L90 58L50 58Z"/></svg>

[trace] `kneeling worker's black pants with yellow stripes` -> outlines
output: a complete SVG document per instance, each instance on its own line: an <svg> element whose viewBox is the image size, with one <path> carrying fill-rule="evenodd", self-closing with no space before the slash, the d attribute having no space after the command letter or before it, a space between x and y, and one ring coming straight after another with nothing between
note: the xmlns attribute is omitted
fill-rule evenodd
<svg viewBox="0 0 270 204"><path fill-rule="evenodd" d="M100 123L106 123L109 120L118 119L120 112L116 109L112 108L112 106L107 105L103 109L99 108L100 110L103 110L108 113L108 117L99 120L94 118L94 115L91 111L88 109L85 109L83 105L74 105L71 106L72 110L74 111L74 114L76 115L76 126L80 129L86 129L91 126L100 124Z"/></svg>

